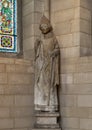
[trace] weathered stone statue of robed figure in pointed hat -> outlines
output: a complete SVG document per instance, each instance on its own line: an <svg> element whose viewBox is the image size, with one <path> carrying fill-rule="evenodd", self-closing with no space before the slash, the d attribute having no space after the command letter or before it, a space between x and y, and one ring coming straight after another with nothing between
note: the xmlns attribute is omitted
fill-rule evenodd
<svg viewBox="0 0 92 130"><path fill-rule="evenodd" d="M58 111L59 46L50 21L43 16L41 38L35 42L35 110Z"/></svg>

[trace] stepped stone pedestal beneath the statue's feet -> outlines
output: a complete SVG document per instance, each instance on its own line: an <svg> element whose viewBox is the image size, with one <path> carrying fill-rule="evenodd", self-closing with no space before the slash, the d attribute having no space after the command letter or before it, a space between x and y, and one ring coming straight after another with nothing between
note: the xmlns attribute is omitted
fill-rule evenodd
<svg viewBox="0 0 92 130"><path fill-rule="evenodd" d="M36 112L33 130L60 130L58 112Z"/></svg>

